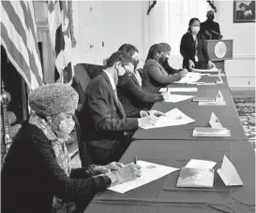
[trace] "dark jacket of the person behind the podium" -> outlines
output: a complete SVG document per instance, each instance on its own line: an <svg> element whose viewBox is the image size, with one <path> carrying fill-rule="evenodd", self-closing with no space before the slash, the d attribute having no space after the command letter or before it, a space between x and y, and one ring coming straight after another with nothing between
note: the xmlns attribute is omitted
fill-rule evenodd
<svg viewBox="0 0 256 213"><path fill-rule="evenodd" d="M205 31L208 31L211 35L212 38L210 38L209 36L207 36L207 34L205 33ZM206 20L203 21L201 23L201 29L200 29L200 33L203 34L205 39L218 39L218 35L215 34L214 32L218 33L220 35L220 29L219 29L219 24L216 21L211 21L211 20Z"/></svg>

